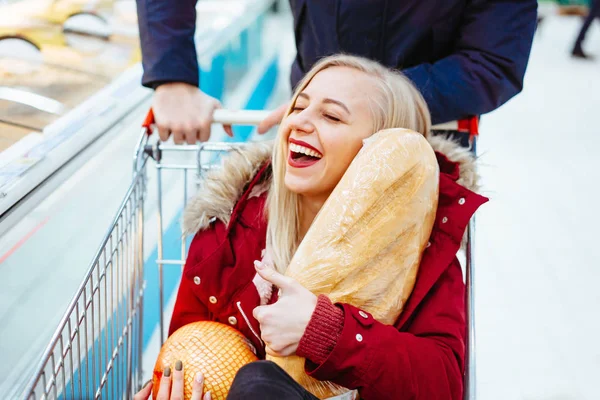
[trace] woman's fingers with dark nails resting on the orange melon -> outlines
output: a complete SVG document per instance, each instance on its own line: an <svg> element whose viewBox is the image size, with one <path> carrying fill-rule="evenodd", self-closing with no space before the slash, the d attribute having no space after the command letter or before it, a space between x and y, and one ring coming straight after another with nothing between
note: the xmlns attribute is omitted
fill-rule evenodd
<svg viewBox="0 0 600 400"><path fill-rule="evenodd" d="M211 400L210 392L207 392L202 398L202 390L204 389L204 376L199 372L196 374L192 384L191 400ZM152 395L152 381L144 385L142 390L133 396L133 400L148 400ZM171 377L171 368L167 367L163 371L163 376L160 379L158 394L156 400L183 400L183 364L181 361L175 363L175 371Z"/></svg>

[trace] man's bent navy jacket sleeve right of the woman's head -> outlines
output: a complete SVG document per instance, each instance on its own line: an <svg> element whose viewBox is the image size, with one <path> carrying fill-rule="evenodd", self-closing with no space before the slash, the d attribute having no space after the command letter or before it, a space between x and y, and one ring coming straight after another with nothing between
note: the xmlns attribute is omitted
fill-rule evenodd
<svg viewBox="0 0 600 400"><path fill-rule="evenodd" d="M536 24L536 0L470 1L454 51L404 70L425 97L433 123L490 112L518 94Z"/></svg>

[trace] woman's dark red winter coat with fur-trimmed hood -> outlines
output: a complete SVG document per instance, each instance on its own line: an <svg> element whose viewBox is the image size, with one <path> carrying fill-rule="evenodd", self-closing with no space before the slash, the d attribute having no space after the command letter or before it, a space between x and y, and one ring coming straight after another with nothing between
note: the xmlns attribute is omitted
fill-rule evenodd
<svg viewBox="0 0 600 400"><path fill-rule="evenodd" d="M338 304L343 312L336 314L320 298L298 348L311 376L358 389L366 400L462 398L467 326L456 254L469 219L487 199L466 188L475 190L477 184L467 150L437 137L430 143L440 165L438 211L399 320L384 325L350 304ZM266 145L232 154L186 209L184 227L195 237L169 334L190 322L218 321L240 330L264 357L260 326L252 316L260 303L252 278L253 262L265 248L269 156ZM339 321L332 324L331 318ZM325 349L314 340L324 336L331 341Z"/></svg>

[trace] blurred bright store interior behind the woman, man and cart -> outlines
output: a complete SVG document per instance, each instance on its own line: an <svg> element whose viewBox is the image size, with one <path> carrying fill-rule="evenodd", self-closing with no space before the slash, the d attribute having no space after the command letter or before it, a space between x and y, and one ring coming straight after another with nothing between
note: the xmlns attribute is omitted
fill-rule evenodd
<svg viewBox="0 0 600 400"><path fill-rule="evenodd" d="M229 109L285 101L295 56L287 2L197 7L203 90ZM597 58L572 55L588 9L585 0L539 2L525 89L481 120L492 198L476 236L483 400L600 396L600 21L585 41ZM133 0L0 0L0 398L20 398L131 182L152 95L140 85L137 32ZM213 132L211 140L229 140ZM273 135L235 132L236 141ZM164 207L165 245L177 250L181 206ZM150 195L145 216L150 270ZM167 307L178 268L165 271ZM144 303L148 359L158 351L156 280L148 275Z"/></svg>

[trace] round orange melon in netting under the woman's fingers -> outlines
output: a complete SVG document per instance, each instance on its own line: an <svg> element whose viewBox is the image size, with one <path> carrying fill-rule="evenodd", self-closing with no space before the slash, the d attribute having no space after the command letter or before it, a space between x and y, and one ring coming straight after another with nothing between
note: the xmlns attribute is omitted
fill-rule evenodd
<svg viewBox="0 0 600 400"><path fill-rule="evenodd" d="M204 375L204 392L213 400L225 400L233 378L244 365L256 361L254 347L236 329L218 322L201 321L175 331L163 344L154 367L152 397L156 399L163 370L173 371L183 362L184 395L189 400L198 372Z"/></svg>

